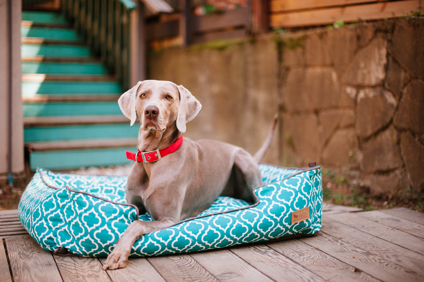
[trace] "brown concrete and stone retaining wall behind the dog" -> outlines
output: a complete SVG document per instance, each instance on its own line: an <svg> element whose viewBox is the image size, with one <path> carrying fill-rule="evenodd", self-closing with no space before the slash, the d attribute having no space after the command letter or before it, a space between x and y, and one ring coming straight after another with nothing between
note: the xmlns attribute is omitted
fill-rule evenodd
<svg viewBox="0 0 424 282"><path fill-rule="evenodd" d="M170 48L149 55L148 77L203 104L187 137L254 153L278 112L265 162L316 161L394 194L424 191L423 50L411 17Z"/></svg>

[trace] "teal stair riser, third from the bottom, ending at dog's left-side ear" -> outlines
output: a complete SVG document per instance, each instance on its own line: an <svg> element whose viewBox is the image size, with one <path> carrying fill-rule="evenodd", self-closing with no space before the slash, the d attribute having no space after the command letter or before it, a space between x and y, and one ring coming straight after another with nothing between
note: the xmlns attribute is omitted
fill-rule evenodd
<svg viewBox="0 0 424 282"><path fill-rule="evenodd" d="M94 116L122 114L118 101L24 103L23 116Z"/></svg>

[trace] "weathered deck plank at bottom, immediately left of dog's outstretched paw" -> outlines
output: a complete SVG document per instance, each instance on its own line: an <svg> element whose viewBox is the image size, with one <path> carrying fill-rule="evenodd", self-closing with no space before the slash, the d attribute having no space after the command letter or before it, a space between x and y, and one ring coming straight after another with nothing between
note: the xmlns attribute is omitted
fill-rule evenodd
<svg viewBox="0 0 424 282"><path fill-rule="evenodd" d="M64 282L111 281L96 257L68 257L53 254Z"/></svg>

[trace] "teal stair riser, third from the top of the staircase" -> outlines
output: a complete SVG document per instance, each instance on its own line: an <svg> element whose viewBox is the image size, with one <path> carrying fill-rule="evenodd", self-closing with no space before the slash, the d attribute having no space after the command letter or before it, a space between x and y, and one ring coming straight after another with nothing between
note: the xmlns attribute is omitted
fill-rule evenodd
<svg viewBox="0 0 424 282"><path fill-rule="evenodd" d="M81 57L91 55L88 46L67 44L22 44L21 56L31 58L36 55L49 57Z"/></svg>

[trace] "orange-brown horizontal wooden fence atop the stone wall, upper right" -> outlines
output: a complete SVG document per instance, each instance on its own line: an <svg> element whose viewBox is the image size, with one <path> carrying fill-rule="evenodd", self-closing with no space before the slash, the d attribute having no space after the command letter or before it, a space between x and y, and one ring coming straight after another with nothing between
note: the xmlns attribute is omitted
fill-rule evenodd
<svg viewBox="0 0 424 282"><path fill-rule="evenodd" d="M271 0L271 28L329 25L402 17L421 10L423 0Z"/></svg>

